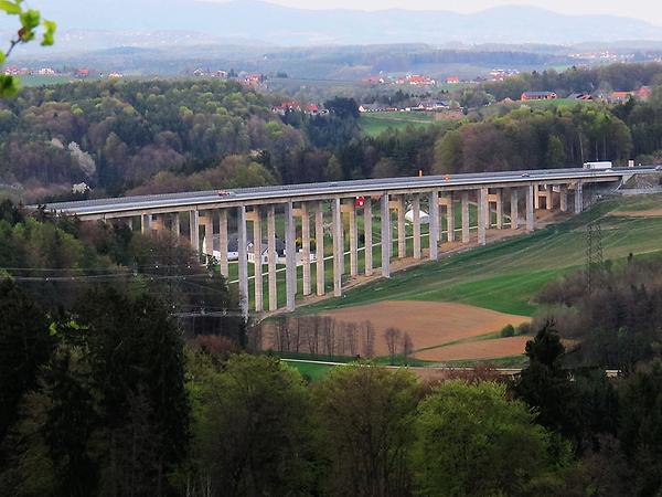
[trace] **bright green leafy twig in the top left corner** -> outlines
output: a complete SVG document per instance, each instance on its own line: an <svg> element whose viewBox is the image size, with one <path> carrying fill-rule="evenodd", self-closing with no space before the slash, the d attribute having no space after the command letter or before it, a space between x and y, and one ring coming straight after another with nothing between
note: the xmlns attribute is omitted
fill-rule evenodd
<svg viewBox="0 0 662 497"><path fill-rule="evenodd" d="M42 27L42 46L50 46L54 42L56 25L53 21L42 19L39 10L30 9L24 0L0 0L0 12L7 15L17 15L21 27L14 38L9 42L7 51L0 50L0 65L11 55L17 45L28 43L36 38L36 30ZM18 78L9 74L0 74L0 98L15 95L19 89Z"/></svg>

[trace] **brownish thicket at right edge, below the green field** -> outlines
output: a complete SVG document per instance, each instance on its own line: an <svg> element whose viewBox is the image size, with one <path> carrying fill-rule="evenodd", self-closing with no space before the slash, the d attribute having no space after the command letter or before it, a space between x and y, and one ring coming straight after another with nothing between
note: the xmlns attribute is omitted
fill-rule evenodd
<svg viewBox="0 0 662 497"><path fill-rule="evenodd" d="M549 284L538 296L562 335L577 342L572 363L634 371L662 351L662 261L630 256ZM590 286L589 286L590 281Z"/></svg>

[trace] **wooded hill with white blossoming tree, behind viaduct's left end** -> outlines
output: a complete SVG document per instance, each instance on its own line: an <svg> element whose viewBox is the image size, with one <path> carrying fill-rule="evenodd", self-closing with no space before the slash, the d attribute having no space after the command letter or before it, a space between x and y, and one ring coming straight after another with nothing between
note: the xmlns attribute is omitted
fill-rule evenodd
<svg viewBox="0 0 662 497"><path fill-rule="evenodd" d="M29 186L118 193L159 171L190 175L252 150L269 152L278 170L302 140L265 97L233 82L72 83L0 104L0 176Z"/></svg>

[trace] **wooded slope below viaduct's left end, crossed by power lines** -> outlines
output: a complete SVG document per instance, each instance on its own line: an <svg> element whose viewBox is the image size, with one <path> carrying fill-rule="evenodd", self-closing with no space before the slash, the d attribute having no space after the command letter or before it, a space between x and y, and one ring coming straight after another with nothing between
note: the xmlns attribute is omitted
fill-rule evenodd
<svg viewBox="0 0 662 497"><path fill-rule="evenodd" d="M182 229L188 230L188 221ZM159 295L171 313L182 315L183 331L214 332L245 343L241 318L213 315L236 311L237 295L216 266L201 266L191 247L167 232L145 236L122 224L51 219L3 201L0 277L8 276L49 309L71 307L98 284L122 294Z"/></svg>

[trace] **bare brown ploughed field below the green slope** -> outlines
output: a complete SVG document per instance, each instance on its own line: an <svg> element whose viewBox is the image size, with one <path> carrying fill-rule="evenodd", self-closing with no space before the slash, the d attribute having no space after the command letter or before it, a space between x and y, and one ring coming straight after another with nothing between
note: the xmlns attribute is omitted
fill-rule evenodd
<svg viewBox="0 0 662 497"><path fill-rule="evenodd" d="M388 353L384 330L389 327L408 332L414 341L414 349L420 350L499 331L509 324L516 326L528 321L525 316L498 313L466 304L412 300L382 302L331 310L323 315L344 322L371 321L376 331L377 356ZM523 353L525 343L526 337L481 340L421 350L415 356L428 360L498 358Z"/></svg>

